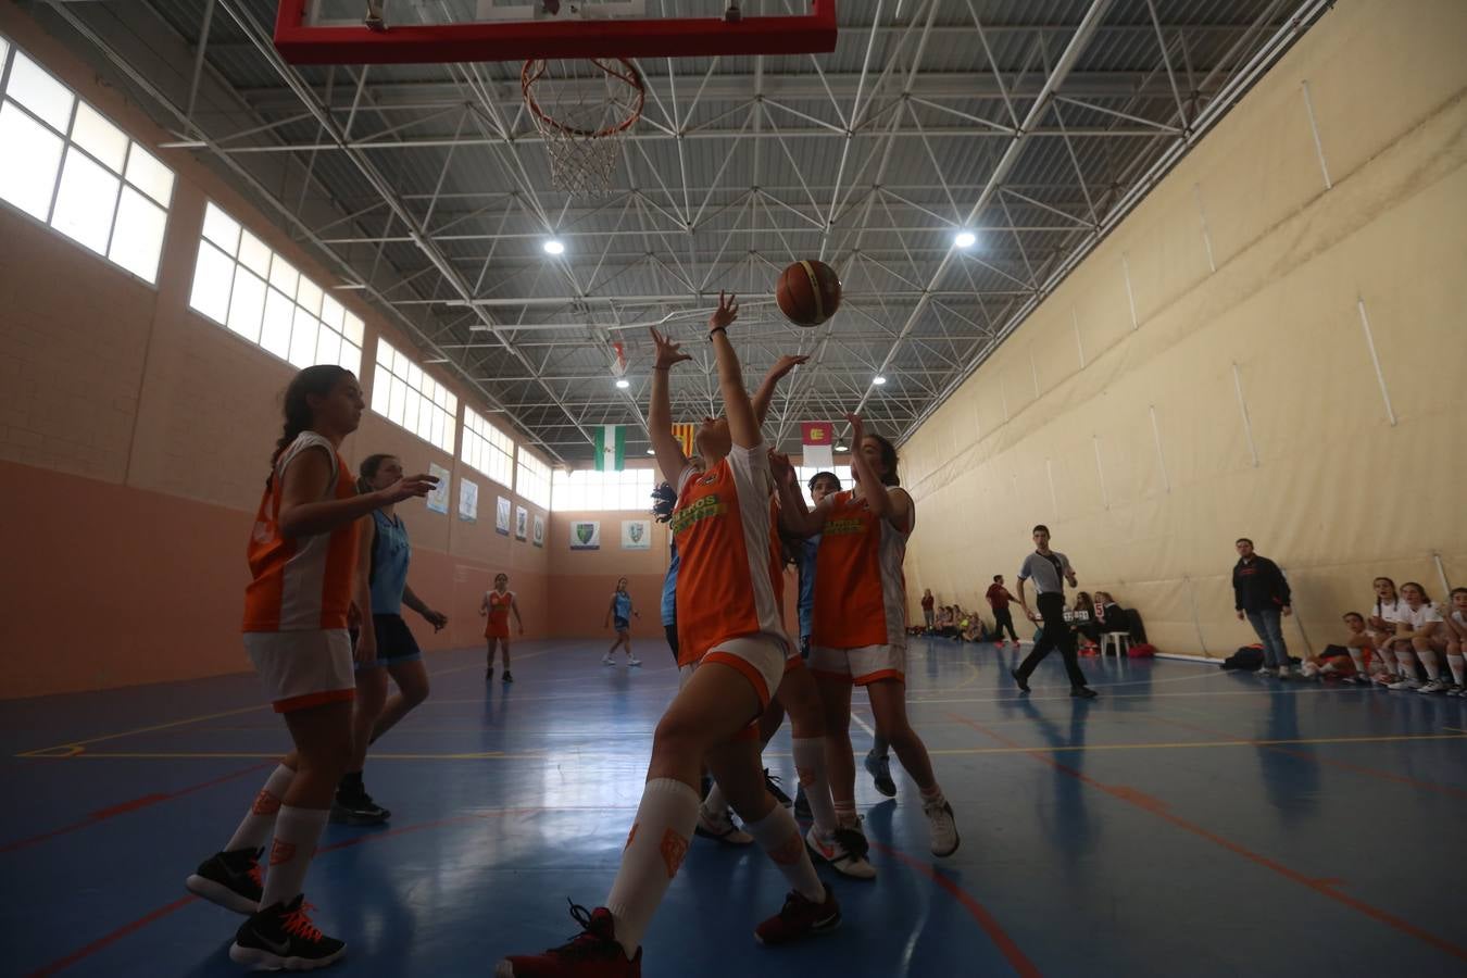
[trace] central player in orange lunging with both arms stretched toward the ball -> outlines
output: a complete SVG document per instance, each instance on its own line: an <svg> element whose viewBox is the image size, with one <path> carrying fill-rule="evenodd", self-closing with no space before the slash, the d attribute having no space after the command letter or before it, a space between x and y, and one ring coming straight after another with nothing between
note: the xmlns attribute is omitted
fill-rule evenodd
<svg viewBox="0 0 1467 978"><path fill-rule="evenodd" d="M543 955L506 957L496 978L637 978L641 938L682 864L698 821L698 764L713 776L794 887L783 909L756 928L766 944L829 931L841 909L805 852L794 817L764 789L758 716L779 686L789 655L780 622L783 581L772 525L769 456L728 337L738 317L719 295L709 342L719 368L726 418L706 418L698 453L707 471L688 465L672 437L667 371L689 355L653 330L651 433L657 466L675 478L678 506L678 661L684 685L657 723L641 805L626 839L606 906L572 905L584 933ZM723 912L726 913L726 908Z"/></svg>

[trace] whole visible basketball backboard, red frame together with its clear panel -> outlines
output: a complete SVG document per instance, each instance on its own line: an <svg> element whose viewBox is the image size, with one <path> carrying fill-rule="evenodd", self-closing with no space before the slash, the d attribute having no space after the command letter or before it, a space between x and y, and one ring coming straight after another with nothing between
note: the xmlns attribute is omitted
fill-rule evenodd
<svg viewBox="0 0 1467 978"><path fill-rule="evenodd" d="M804 1L788 13L783 0L280 0L274 43L298 65L835 50L835 0Z"/></svg>

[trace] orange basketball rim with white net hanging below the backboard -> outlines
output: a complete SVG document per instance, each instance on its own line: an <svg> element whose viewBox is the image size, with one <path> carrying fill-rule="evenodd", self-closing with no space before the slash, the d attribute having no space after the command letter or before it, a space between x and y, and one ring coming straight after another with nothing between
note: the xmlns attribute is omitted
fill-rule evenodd
<svg viewBox="0 0 1467 978"><path fill-rule="evenodd" d="M612 188L616 154L647 92L623 57L531 59L519 70L530 117L546 141L550 182L574 195Z"/></svg>

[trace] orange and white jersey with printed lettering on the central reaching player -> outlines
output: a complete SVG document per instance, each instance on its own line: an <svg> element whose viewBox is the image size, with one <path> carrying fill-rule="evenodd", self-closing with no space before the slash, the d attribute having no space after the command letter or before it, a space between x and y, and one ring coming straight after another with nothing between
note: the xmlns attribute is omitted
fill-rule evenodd
<svg viewBox="0 0 1467 978"><path fill-rule="evenodd" d="M731 638L766 635L788 647L773 512L764 446L734 446L707 472L684 469L672 513L679 666Z"/></svg>

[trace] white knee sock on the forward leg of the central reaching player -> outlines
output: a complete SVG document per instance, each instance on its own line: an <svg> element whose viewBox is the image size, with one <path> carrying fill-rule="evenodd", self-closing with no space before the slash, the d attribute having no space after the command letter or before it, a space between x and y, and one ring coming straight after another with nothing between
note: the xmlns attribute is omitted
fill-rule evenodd
<svg viewBox="0 0 1467 978"><path fill-rule="evenodd" d="M698 804L695 790L670 777L653 779L643 789L622 865L606 897L606 909L616 919L616 941L628 957L641 946L651 915L688 853Z"/></svg>

